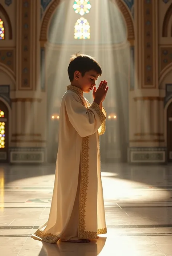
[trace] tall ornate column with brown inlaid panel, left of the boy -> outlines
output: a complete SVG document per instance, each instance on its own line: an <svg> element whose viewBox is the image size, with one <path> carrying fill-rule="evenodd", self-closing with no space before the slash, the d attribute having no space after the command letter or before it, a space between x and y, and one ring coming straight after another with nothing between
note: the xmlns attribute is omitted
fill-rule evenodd
<svg viewBox="0 0 172 256"><path fill-rule="evenodd" d="M46 161L46 137L32 109L46 109L40 88L40 1L16 0L16 134L11 140L12 163L43 163ZM44 101L44 102L43 102ZM36 102L36 106L34 103ZM46 125L46 113L43 117Z"/></svg>

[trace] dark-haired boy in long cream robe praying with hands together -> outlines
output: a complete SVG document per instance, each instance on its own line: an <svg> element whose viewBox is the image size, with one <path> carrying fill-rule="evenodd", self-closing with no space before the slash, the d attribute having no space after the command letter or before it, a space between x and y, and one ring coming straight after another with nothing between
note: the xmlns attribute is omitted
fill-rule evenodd
<svg viewBox="0 0 172 256"><path fill-rule="evenodd" d="M91 56L76 54L68 74L71 85L62 97L59 147L52 204L48 222L32 238L88 243L107 233L101 182L99 135L105 132L106 111L102 107L108 86L95 81L101 67ZM93 90L93 103L83 92Z"/></svg>

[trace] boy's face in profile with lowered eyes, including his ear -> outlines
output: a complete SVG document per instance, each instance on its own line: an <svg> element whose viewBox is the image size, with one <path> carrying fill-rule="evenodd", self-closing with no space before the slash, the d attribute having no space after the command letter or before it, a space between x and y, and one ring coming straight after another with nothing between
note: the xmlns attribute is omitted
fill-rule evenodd
<svg viewBox="0 0 172 256"><path fill-rule="evenodd" d="M89 93L91 90L93 90L95 86L95 81L98 79L98 77L99 74L97 74L97 72L95 72L94 70L86 72L83 77L79 71L75 71L74 74L74 79L77 80L79 87L85 93Z"/></svg>

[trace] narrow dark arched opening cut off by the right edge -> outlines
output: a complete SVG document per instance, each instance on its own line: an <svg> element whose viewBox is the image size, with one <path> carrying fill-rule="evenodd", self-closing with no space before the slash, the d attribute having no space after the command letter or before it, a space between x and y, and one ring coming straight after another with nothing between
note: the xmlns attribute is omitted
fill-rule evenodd
<svg viewBox="0 0 172 256"><path fill-rule="evenodd" d="M167 109L167 161L172 163L172 102Z"/></svg>

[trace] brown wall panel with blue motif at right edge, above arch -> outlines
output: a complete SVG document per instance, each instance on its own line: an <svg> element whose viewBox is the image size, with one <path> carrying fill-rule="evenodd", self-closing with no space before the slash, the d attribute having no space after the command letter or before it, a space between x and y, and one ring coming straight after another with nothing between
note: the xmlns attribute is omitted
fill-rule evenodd
<svg viewBox="0 0 172 256"><path fill-rule="evenodd" d="M160 62L160 72L166 68L168 64L172 62L172 47L161 47L161 62Z"/></svg>

